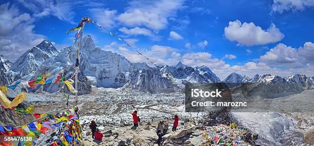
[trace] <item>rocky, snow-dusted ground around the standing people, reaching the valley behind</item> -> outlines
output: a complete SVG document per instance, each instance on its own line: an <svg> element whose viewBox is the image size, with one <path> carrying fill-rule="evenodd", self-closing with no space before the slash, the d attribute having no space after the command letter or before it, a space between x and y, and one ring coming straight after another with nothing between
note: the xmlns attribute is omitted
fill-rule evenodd
<svg viewBox="0 0 314 146"><path fill-rule="evenodd" d="M25 103L35 105L37 113L54 114L67 108L67 95L30 93ZM74 103L74 95L70 95L68 107L74 106ZM233 142L237 145L314 144L311 112L186 113L182 92L149 94L123 88L93 88L91 94L79 96L78 103L84 145L155 145L159 121L169 124L164 145L232 145ZM135 131L131 130L133 110L138 110L141 118ZM178 131L171 132L175 114L180 116L179 127ZM1 121L9 118L2 118ZM91 138L88 128L91 120L95 120L104 133L103 141ZM21 121L21 124L25 122ZM237 126L230 126L233 122Z"/></svg>

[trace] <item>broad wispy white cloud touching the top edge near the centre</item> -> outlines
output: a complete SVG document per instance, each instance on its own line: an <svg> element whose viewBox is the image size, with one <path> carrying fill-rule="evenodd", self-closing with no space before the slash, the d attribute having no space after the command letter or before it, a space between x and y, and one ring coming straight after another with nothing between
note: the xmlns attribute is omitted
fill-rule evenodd
<svg viewBox="0 0 314 146"><path fill-rule="evenodd" d="M127 10L117 17L129 27L145 26L155 31L166 28L168 18L175 15L183 1L132 1Z"/></svg>

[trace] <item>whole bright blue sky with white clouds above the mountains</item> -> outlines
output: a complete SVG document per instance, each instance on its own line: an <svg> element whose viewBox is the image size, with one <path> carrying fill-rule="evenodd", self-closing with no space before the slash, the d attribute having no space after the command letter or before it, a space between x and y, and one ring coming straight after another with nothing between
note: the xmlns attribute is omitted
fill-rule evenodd
<svg viewBox="0 0 314 146"><path fill-rule="evenodd" d="M0 54L15 61L44 38L72 44L84 16L136 46L156 64L207 65L224 79L232 72L314 75L314 1L1 1ZM97 46L147 62L89 24Z"/></svg>

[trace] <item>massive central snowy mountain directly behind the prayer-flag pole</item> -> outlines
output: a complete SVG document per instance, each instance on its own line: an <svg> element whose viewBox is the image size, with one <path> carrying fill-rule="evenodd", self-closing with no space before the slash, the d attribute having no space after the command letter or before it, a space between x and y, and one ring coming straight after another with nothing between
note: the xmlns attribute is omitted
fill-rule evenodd
<svg viewBox="0 0 314 146"><path fill-rule="evenodd" d="M101 50L100 47L95 46L90 35L83 38L81 46L78 89L85 90L82 93L91 91L91 83L96 87L105 88L119 88L128 83L127 87L149 92L163 91L168 88L173 90L171 81L162 77L160 71L155 71L156 69L154 70L146 63L131 63L124 56ZM76 49L77 44L62 49L55 57L44 61L32 78L35 78L35 75L49 72L52 75L49 79L55 79L55 75L62 70L66 70L67 79L72 77ZM148 80L148 77L154 79ZM45 85L44 90L56 92L59 87L55 84Z"/></svg>

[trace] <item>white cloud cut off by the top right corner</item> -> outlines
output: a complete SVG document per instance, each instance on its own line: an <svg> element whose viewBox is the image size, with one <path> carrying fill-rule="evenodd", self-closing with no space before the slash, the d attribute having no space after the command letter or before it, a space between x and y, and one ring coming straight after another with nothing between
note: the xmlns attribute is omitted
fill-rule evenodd
<svg viewBox="0 0 314 146"><path fill-rule="evenodd" d="M272 12L283 13L284 11L303 11L305 7L313 7L313 0L273 0Z"/></svg>

